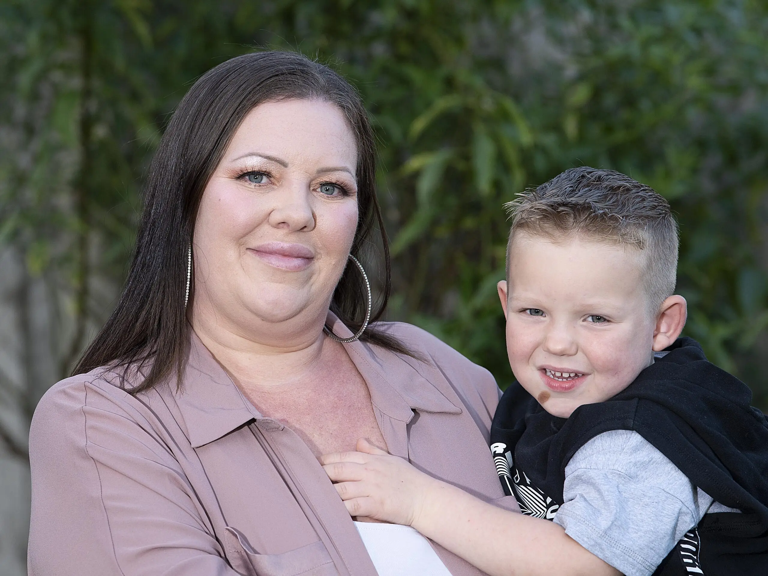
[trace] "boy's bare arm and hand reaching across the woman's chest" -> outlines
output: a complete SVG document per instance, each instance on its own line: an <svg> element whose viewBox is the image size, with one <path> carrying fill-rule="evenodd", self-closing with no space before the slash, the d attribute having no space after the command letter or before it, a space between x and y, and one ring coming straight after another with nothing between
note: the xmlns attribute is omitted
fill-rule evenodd
<svg viewBox="0 0 768 576"><path fill-rule="evenodd" d="M360 440L320 458L350 515L410 525L492 576L620 574L560 526L496 508Z"/></svg>

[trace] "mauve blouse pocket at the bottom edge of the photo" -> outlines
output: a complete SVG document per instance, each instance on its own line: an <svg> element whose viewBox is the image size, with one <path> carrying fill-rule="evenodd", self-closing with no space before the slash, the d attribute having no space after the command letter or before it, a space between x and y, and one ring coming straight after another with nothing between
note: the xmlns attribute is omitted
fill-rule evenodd
<svg viewBox="0 0 768 576"><path fill-rule="evenodd" d="M224 545L232 568L243 576L338 576L339 574L322 541L316 541L283 554L258 554L241 531L227 526Z"/></svg>

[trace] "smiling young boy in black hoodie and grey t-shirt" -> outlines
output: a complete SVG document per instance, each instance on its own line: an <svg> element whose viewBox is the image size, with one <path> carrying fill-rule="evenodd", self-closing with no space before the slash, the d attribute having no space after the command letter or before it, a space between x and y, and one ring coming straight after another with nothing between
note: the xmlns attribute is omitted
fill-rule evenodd
<svg viewBox="0 0 768 576"><path fill-rule="evenodd" d="M768 422L678 338L667 201L580 167L511 214L498 293L517 382L491 448L523 514L364 440L323 457L350 514L411 525L488 574L768 574Z"/></svg>

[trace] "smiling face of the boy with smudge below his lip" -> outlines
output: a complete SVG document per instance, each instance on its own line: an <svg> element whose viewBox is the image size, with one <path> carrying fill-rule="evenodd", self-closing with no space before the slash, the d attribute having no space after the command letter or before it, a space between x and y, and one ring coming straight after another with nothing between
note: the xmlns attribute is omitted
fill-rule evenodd
<svg viewBox="0 0 768 576"><path fill-rule="evenodd" d="M515 378L552 415L621 392L653 362L642 253L518 233L499 283Z"/></svg>

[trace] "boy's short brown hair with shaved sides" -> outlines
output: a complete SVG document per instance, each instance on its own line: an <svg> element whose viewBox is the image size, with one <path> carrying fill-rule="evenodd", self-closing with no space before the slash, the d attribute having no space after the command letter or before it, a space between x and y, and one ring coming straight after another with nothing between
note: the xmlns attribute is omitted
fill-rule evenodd
<svg viewBox="0 0 768 576"><path fill-rule="evenodd" d="M571 168L505 204L515 233L554 240L577 236L643 250L649 304L654 313L674 293L677 281L677 221L653 188L616 170Z"/></svg>

